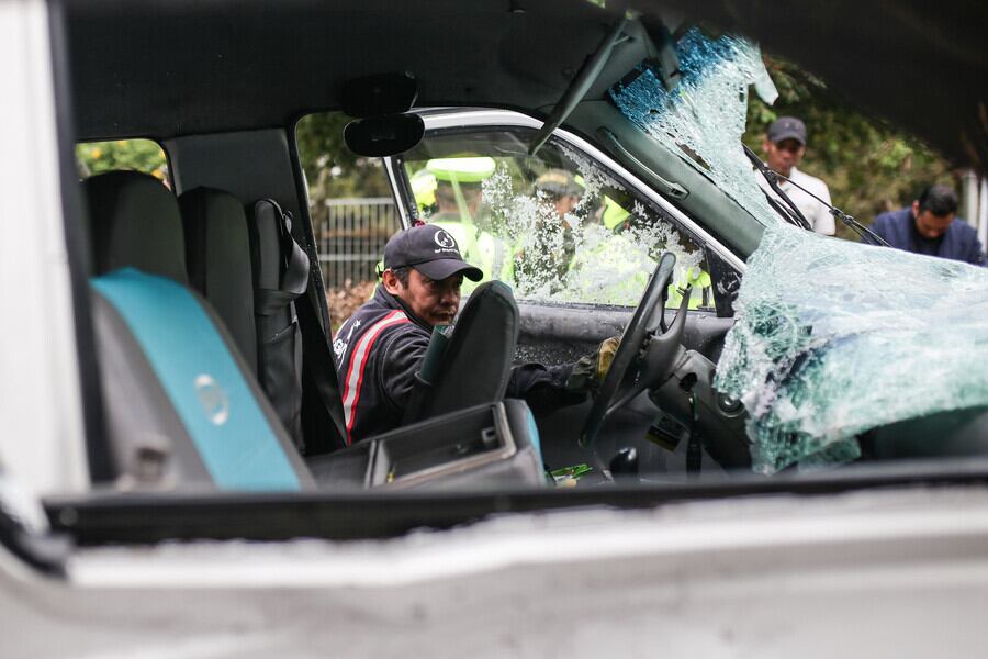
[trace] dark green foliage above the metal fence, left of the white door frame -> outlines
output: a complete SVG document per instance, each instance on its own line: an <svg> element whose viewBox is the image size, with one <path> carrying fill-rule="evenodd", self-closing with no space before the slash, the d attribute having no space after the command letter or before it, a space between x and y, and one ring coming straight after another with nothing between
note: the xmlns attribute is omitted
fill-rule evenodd
<svg viewBox="0 0 988 659"><path fill-rule="evenodd" d="M347 148L343 132L349 121L339 112L321 112L303 118L295 129L313 219L323 200L391 197L381 159L357 156Z"/></svg>

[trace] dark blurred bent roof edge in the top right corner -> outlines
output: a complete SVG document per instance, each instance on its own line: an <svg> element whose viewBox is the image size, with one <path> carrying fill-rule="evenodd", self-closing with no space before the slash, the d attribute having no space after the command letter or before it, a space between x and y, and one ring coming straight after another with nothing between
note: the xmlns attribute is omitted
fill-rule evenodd
<svg viewBox="0 0 988 659"><path fill-rule="evenodd" d="M988 3L967 0L636 0L756 40L841 99L988 169ZM739 9L742 7L743 9Z"/></svg>

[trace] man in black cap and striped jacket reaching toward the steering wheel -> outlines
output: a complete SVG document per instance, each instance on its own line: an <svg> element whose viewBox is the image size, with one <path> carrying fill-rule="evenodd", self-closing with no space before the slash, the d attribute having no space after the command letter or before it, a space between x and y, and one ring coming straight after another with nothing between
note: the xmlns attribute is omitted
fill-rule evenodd
<svg viewBox="0 0 988 659"><path fill-rule="evenodd" d="M388 241L381 286L333 342L348 444L401 425L433 327L452 323L464 277L479 281L483 273L463 260L456 239L441 226L416 226ZM587 386L606 372L616 347L613 342L588 362L582 360L576 376L571 365L516 367L507 394L531 402L529 395L537 393L549 405L582 402Z"/></svg>

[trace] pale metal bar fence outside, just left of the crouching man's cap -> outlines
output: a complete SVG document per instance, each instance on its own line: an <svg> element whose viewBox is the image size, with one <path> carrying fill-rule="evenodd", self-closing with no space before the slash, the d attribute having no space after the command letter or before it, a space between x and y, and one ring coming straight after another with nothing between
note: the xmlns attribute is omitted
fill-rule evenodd
<svg viewBox="0 0 988 659"><path fill-rule="evenodd" d="M333 199L312 210L319 266L327 288L374 279L374 266L401 220L388 197Z"/></svg>

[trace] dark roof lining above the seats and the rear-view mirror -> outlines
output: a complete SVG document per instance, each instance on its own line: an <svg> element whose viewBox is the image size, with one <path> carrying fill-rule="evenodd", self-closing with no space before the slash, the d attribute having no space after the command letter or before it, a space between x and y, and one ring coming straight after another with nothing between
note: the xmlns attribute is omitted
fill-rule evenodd
<svg viewBox="0 0 988 659"><path fill-rule="evenodd" d="M551 105L609 24L590 3L515 14L503 1L445 0L429 11L459 27L425 47L435 26L414 2L68 4L76 124L90 139L283 126L338 108L344 80L395 70L416 75L422 107ZM377 37L357 48L352 34Z"/></svg>

